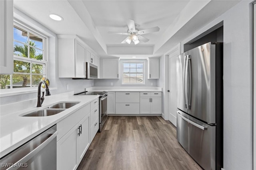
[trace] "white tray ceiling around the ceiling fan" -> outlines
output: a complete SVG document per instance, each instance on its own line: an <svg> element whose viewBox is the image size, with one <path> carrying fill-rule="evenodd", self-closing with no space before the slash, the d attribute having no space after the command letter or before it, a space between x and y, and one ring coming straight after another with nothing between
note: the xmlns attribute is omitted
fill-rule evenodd
<svg viewBox="0 0 256 170"><path fill-rule="evenodd" d="M56 34L78 35L98 55L129 58L164 54L172 45L206 25L239 0L14 0L14 7ZM49 14L62 16L54 21ZM202 20L200 19L202 18ZM138 30L160 27L144 34L150 41L122 45L127 35L126 20L135 21ZM196 21L195 21L196 19ZM193 25L191 23L196 23ZM185 27L193 25L193 28ZM182 33L181 33L182 31Z"/></svg>

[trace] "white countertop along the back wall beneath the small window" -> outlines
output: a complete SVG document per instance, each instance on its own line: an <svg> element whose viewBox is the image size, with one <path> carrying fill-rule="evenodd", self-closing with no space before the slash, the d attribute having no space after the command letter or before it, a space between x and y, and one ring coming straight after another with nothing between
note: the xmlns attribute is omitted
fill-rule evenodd
<svg viewBox="0 0 256 170"><path fill-rule="evenodd" d="M162 92L162 88L150 86L94 86L86 88L86 90L106 92Z"/></svg>

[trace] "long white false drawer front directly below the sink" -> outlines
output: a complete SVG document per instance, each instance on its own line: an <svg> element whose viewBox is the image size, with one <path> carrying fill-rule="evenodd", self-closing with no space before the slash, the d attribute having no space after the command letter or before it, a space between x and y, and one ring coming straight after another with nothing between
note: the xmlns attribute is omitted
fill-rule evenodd
<svg viewBox="0 0 256 170"><path fill-rule="evenodd" d="M62 138L72 127L74 127L80 120L82 120L88 113L90 113L90 104L78 109L62 121L57 123L57 141Z"/></svg>

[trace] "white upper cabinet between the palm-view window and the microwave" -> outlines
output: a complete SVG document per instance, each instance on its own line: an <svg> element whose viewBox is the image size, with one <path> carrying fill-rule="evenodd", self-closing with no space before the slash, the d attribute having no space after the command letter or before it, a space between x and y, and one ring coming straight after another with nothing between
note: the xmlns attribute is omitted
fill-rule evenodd
<svg viewBox="0 0 256 170"><path fill-rule="evenodd" d="M58 39L59 77L86 77L86 48L78 38Z"/></svg>

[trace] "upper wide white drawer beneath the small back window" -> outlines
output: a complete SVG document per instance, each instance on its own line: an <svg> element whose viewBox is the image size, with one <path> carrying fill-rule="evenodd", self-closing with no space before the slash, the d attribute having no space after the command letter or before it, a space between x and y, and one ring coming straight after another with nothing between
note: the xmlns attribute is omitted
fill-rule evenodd
<svg viewBox="0 0 256 170"><path fill-rule="evenodd" d="M140 103L140 92L116 92L116 103Z"/></svg>

